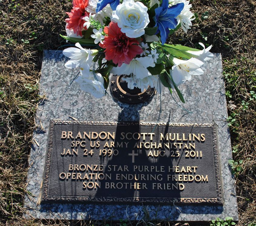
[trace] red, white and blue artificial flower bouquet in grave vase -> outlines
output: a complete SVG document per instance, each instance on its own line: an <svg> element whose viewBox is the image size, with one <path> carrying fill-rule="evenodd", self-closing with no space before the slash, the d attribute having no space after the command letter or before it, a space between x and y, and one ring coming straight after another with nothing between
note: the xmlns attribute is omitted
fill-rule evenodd
<svg viewBox="0 0 256 226"><path fill-rule="evenodd" d="M109 77L125 75L129 89L145 91L178 85L202 75L201 66L211 59L211 46L203 50L166 44L180 27L187 32L194 14L186 0L73 0L67 12L66 36L75 43L63 54L67 68L80 68L76 78L83 91L97 98L107 94Z"/></svg>

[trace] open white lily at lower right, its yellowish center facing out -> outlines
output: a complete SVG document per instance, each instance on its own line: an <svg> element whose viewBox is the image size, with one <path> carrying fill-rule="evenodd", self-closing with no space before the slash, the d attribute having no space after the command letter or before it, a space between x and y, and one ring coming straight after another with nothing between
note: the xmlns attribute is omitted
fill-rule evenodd
<svg viewBox="0 0 256 226"><path fill-rule="evenodd" d="M184 83L186 80L191 79L191 75L202 75L204 71L200 68L204 63L196 58L190 58L188 60L181 60L173 58L172 70L170 74L173 81L178 86Z"/></svg>

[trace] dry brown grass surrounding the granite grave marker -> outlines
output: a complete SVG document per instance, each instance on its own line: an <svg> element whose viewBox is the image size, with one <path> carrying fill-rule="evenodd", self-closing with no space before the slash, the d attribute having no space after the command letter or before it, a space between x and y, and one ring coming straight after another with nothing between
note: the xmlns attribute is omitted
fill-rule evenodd
<svg viewBox="0 0 256 226"><path fill-rule="evenodd" d="M179 30L172 43L213 44L221 53L228 123L238 196L238 225L256 225L256 1L193 0L197 19L189 32ZM22 218L27 159L35 127L43 49L65 45L68 0L0 0L0 224L87 225L105 221L42 221ZM193 44L194 43L194 44ZM232 164L230 162L230 164ZM118 225L130 222L116 222ZM141 221L139 225L167 224ZM151 225L152 225L151 224ZM200 225L198 223L196 225ZM181 226L182 224L177 224ZM183 225L192 225L190 223Z"/></svg>

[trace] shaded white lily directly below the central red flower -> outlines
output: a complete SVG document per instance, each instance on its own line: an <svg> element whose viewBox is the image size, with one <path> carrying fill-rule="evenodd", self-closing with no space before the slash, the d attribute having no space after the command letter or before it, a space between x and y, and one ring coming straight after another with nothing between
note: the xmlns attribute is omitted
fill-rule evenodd
<svg viewBox="0 0 256 226"><path fill-rule="evenodd" d="M152 66L150 57L137 57L132 59L129 64L122 64L121 67L112 68L111 73L114 75L131 75L132 77L143 79L151 75L147 69L150 66Z"/></svg>

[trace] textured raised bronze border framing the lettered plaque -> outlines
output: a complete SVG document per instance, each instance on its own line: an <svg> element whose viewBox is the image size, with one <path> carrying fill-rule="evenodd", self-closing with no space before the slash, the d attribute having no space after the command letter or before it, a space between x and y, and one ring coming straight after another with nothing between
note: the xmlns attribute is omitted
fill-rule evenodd
<svg viewBox="0 0 256 226"><path fill-rule="evenodd" d="M146 198L146 197L91 197L91 196L48 196L53 134L55 125L104 125L104 126L172 126L172 127L211 127L214 170L216 181L217 198ZM218 142L215 123L168 123L168 122L116 122L116 121L68 121L68 120L50 120L48 133L47 156L45 159L45 173L42 188L42 202L126 202L126 203L161 203L161 204L215 204L222 205L221 176L218 159ZM161 199L161 202L159 202Z"/></svg>

